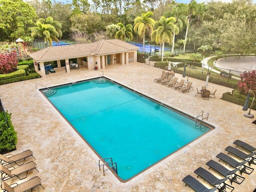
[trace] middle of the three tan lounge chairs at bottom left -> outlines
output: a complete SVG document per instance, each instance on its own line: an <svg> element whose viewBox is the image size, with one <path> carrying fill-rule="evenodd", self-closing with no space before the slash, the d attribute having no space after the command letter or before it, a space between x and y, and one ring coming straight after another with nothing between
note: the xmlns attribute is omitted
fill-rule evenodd
<svg viewBox="0 0 256 192"><path fill-rule="evenodd" d="M33 170L33 169L37 170L36 169L36 164L33 161L28 162L28 163L26 163L24 165L18 166L17 168L13 167L13 169L11 169L11 170L7 169L5 166L0 164L0 172L2 174L1 175L1 179L2 179L2 181L5 181L5 180L8 180L8 179L13 178L15 176L18 177L19 179L24 179L24 178L27 177L28 172L30 170ZM18 176L18 175L20 175L22 173L26 173L26 177L20 178Z"/></svg>

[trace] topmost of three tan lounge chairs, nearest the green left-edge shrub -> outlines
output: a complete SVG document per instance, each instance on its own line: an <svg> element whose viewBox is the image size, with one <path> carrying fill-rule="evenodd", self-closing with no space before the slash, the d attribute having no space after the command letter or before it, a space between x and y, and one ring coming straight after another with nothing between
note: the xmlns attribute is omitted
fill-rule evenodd
<svg viewBox="0 0 256 192"><path fill-rule="evenodd" d="M11 156L10 156L11 155ZM10 156L10 157L8 157ZM21 152L19 154L16 154L16 155L12 155L12 154L8 154L6 156L4 155L1 155L0 154L0 160L1 160L1 164L2 165L7 165L7 164L11 164L11 163L15 163L17 164L16 162L19 161L19 160L24 160L24 162L22 164L17 164L18 166L20 165L23 165L25 163L25 159L27 157L30 157L32 156L33 157L33 153L31 150L26 150L24 152ZM33 157L34 158L34 157ZM35 158L34 158L35 159Z"/></svg>

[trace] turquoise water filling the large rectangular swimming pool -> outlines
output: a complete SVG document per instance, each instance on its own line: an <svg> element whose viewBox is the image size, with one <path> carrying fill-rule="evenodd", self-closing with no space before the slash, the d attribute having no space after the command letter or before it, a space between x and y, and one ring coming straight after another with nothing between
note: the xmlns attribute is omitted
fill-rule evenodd
<svg viewBox="0 0 256 192"><path fill-rule="evenodd" d="M129 180L205 134L194 120L118 84L90 80L52 88L48 100L102 158ZM124 181L125 182L125 181Z"/></svg>

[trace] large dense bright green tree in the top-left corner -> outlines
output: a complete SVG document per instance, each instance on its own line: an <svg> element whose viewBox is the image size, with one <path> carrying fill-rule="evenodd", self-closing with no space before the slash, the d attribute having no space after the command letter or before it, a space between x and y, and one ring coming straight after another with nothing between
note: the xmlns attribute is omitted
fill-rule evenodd
<svg viewBox="0 0 256 192"><path fill-rule="evenodd" d="M22 0L0 0L0 40L16 40L28 35L37 16L35 9Z"/></svg>

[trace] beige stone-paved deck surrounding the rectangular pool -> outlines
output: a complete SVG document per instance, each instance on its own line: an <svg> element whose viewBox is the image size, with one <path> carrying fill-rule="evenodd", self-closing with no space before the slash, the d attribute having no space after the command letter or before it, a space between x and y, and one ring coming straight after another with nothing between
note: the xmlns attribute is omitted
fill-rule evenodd
<svg viewBox="0 0 256 192"><path fill-rule="evenodd" d="M26 162L34 160L39 173L36 170L30 171L24 180L39 176L45 190L37 187L33 191L193 192L189 186L185 187L182 178L188 174L196 177L194 170L199 166L208 169L206 162L211 159L218 161L216 155L220 152L227 154L224 149L229 145L235 147L233 142L236 139L256 147L256 124L252 124L256 118L244 117L242 106L220 99L224 92L231 92L232 89L208 83L209 90L217 89L216 99L211 96L210 100L203 100L200 95L195 97L195 94L196 87L204 86L204 81L189 78L193 82L194 91L182 93L154 82L162 74L159 68L137 62L125 66L115 64L104 69L104 76L190 116L196 117L204 110L204 113L209 113L206 122L215 126L215 129L126 183L120 182L109 170L103 176L97 167L99 158L38 91L44 86L99 77L103 72L86 70L84 67L71 70L70 74L66 74L64 68L55 70L56 73L50 73L46 78L0 86L4 109L12 113L12 123L18 132L17 151L13 154L30 149L36 158L27 158ZM182 78L180 74L175 76ZM251 114L256 116L256 111L251 110ZM256 168L256 165L251 167ZM222 178L212 169L210 172ZM242 184L232 184L234 192L253 192L256 188L256 170L242 176L246 178ZM198 180L208 188L212 187L202 178ZM14 178L6 182L12 184L23 180ZM230 184L229 181L227 183Z"/></svg>

